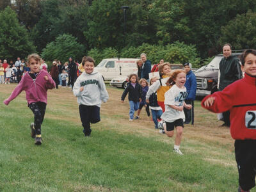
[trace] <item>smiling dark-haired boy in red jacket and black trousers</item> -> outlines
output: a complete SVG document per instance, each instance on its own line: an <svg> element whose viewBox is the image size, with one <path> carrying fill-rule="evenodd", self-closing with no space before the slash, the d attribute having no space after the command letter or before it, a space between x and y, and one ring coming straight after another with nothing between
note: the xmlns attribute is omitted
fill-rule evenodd
<svg viewBox="0 0 256 192"><path fill-rule="evenodd" d="M202 107L214 113L230 110L230 134L235 140L239 173L238 191L255 186L256 170L256 50L244 51L240 60L244 78L202 100Z"/></svg>

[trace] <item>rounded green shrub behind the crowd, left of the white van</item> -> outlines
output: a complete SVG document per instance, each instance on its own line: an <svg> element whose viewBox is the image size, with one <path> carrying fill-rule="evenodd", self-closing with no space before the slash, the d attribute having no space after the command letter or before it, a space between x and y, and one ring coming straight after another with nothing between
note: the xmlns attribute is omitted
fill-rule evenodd
<svg viewBox="0 0 256 192"><path fill-rule="evenodd" d="M43 49L42 58L47 61L60 60L65 62L72 56L74 60L81 60L84 56L84 46L77 42L72 35L63 34L50 42Z"/></svg>

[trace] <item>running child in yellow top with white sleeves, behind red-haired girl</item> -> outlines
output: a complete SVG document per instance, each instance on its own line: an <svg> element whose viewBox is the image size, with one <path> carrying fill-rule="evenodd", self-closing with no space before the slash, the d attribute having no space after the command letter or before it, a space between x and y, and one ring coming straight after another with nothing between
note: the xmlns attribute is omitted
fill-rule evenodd
<svg viewBox="0 0 256 192"><path fill-rule="evenodd" d="M171 65L170 63L163 63L158 66L159 73L162 74L162 78L159 81L156 81L148 88L146 95L146 102L149 102L149 97L152 93L157 92L157 103L163 109L164 112L164 93L166 93L170 88L168 84L168 79L170 77Z"/></svg>

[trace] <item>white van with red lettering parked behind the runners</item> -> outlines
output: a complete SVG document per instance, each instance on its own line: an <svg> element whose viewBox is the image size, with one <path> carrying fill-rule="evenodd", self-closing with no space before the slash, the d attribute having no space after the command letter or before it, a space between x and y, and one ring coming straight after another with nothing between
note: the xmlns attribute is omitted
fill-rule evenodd
<svg viewBox="0 0 256 192"><path fill-rule="evenodd" d="M130 74L137 74L138 67L136 61L139 59L129 58L111 58L102 60L95 70L102 74L104 81L110 81L114 77L129 76Z"/></svg>

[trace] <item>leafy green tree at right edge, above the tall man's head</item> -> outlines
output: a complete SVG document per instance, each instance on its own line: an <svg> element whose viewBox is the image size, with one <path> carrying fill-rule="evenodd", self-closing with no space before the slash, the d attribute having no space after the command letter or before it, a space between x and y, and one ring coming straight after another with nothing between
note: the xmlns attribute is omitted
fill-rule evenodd
<svg viewBox="0 0 256 192"><path fill-rule="evenodd" d="M227 26L221 27L219 44L230 43L233 49L256 48L256 13L249 10L237 15Z"/></svg>

